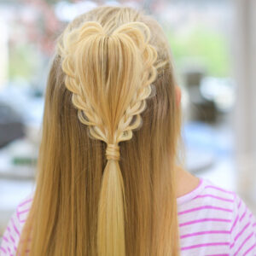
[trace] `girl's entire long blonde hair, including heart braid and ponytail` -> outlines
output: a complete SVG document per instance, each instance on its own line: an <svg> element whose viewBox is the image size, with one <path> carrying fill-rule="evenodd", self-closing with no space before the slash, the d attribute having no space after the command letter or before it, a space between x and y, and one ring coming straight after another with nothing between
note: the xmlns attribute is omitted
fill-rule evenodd
<svg viewBox="0 0 256 256"><path fill-rule="evenodd" d="M20 255L178 255L181 109L158 23L99 7L61 34Z"/></svg>

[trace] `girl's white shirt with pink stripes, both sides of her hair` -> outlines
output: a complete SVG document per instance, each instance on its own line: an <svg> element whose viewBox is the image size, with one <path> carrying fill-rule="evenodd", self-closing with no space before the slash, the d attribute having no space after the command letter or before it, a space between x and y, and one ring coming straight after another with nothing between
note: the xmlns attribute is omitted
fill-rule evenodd
<svg viewBox="0 0 256 256"><path fill-rule="evenodd" d="M3 234L0 255L15 255L32 204L22 201ZM256 255L256 219L234 192L201 179L196 189L177 198L182 256Z"/></svg>

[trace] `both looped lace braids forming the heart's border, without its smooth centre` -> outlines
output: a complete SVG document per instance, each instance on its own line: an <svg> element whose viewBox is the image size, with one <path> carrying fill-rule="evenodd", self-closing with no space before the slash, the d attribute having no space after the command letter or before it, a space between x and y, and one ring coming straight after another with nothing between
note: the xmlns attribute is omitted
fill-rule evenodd
<svg viewBox="0 0 256 256"><path fill-rule="evenodd" d="M139 30L139 27L144 29L145 35ZM77 108L79 120L84 125L89 125L90 136L109 143L108 132L104 129L103 120L100 113L96 112L96 105L98 102L90 101L90 91L83 88L82 84L76 76L76 70L74 69L73 62L73 49L79 48L84 35L87 37L107 37L104 34L102 26L97 22L86 22L84 26L69 33L64 33L63 47L59 44L61 49L61 55L63 57L62 70L66 73L65 84L67 89L73 92L72 102L75 108ZM113 138L113 143L119 143L122 141L130 140L132 137L132 130L137 129L141 123L140 113L146 108L146 99L152 93L152 82L156 77L156 67L153 66L156 61L156 50L148 44L149 29L143 23L131 22L120 26L119 29L113 32L113 35L117 37L131 36L134 39L137 47L142 50L144 73L141 79L140 87L135 91L134 96L131 98L131 102L123 117L119 120L117 131ZM144 37L144 40L142 40ZM76 41L75 41L76 40ZM83 90L85 89L85 90ZM90 89L90 88L88 88ZM135 117L135 120L134 120ZM131 120L133 124L131 125Z"/></svg>

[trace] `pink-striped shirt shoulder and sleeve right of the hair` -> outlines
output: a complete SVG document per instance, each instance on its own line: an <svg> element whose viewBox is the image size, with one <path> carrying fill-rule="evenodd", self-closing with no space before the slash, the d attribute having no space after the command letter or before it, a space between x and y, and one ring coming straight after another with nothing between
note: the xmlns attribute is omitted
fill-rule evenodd
<svg viewBox="0 0 256 256"><path fill-rule="evenodd" d="M196 189L177 198L177 209L183 248L256 254L256 219L235 192L201 179Z"/></svg>

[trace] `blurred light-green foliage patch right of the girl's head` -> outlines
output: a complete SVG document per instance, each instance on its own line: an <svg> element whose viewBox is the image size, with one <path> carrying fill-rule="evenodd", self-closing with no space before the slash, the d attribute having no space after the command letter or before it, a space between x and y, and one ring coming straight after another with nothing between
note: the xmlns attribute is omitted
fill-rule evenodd
<svg viewBox="0 0 256 256"><path fill-rule="evenodd" d="M195 26L186 32L169 31L167 34L175 65L178 68L182 68L186 58L200 58L205 65L207 75L229 76L230 53L224 34L205 26Z"/></svg>

